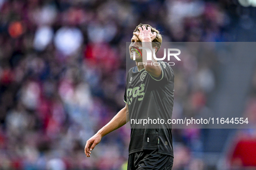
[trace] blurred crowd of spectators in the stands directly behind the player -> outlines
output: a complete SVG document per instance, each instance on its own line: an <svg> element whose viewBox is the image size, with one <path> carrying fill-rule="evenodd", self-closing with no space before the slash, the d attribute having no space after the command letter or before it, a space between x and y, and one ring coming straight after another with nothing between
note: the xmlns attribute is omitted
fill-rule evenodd
<svg viewBox="0 0 256 170"><path fill-rule="evenodd" d="M120 170L130 129L84 145L125 106L126 42L139 23L163 41L227 41L231 17L217 1L0 0L0 169ZM173 116L207 109L214 64L187 54L175 72ZM200 129L173 131L175 170L203 170Z"/></svg>

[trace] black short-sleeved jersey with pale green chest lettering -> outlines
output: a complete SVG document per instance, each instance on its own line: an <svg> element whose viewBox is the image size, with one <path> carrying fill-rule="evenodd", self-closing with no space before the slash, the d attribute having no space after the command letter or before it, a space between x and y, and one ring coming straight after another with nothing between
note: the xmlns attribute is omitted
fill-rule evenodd
<svg viewBox="0 0 256 170"><path fill-rule="evenodd" d="M162 73L158 78L145 69L138 71L137 66L126 77L124 101L128 104L131 125L129 154L156 149L173 157L172 129L167 120L172 118L174 73L166 62L159 63ZM143 125L143 119L149 120L148 124ZM165 122L160 123L161 119Z"/></svg>

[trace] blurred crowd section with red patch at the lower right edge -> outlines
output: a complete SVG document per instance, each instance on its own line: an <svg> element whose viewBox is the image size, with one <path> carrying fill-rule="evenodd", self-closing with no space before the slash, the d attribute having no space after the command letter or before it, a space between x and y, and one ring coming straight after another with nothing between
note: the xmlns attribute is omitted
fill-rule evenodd
<svg viewBox="0 0 256 170"><path fill-rule="evenodd" d="M243 112L243 116L250 120L248 129L237 130L227 153L227 167L232 170L250 170L256 167L256 70L250 86Z"/></svg>

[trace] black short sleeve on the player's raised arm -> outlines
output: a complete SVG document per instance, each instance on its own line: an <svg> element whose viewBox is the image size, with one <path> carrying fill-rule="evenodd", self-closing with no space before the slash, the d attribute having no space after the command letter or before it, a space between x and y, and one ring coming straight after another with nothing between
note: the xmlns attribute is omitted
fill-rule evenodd
<svg viewBox="0 0 256 170"><path fill-rule="evenodd" d="M161 67L161 75L159 77L154 77L154 76L150 76L152 77L152 79L156 80L156 81L161 81L161 80L165 80L167 82L169 82L172 77L174 76L172 67L168 65L168 63L163 62L163 61L159 61L158 63L160 63L160 67Z"/></svg>

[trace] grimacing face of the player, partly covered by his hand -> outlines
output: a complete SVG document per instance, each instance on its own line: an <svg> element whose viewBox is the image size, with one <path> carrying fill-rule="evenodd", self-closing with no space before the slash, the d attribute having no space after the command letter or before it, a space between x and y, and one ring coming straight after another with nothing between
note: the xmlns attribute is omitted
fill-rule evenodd
<svg viewBox="0 0 256 170"><path fill-rule="evenodd" d="M142 62L142 49L139 49L139 47L142 47L141 41L136 35L133 35L133 38L131 39L131 44L129 46L130 58L133 60L133 53L135 53L135 60L137 62ZM141 53L136 48L138 48Z"/></svg>

